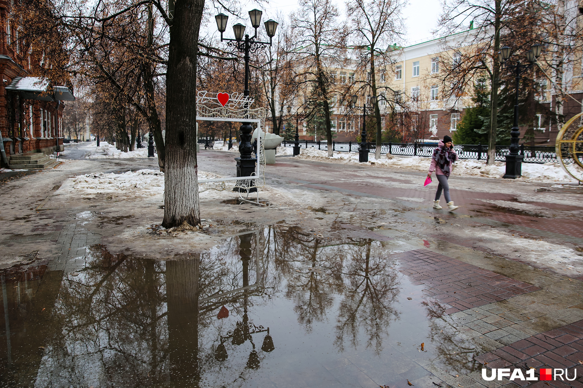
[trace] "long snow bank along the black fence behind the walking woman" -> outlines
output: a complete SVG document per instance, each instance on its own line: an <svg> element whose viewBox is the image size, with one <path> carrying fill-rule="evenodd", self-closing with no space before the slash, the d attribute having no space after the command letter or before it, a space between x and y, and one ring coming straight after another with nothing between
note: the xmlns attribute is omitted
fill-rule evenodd
<svg viewBox="0 0 583 388"><path fill-rule="evenodd" d="M368 155L367 165L387 166L391 168L403 168L417 171L429 170L431 163L430 158L423 156L395 156L383 155L381 159L375 159L374 154ZM333 163L359 163L359 154L357 152L334 152L331 158L328 158L328 151L321 151L315 148L302 148L300 159L319 160ZM363 164L363 163L360 163ZM493 165L487 166L486 161L476 161L473 159L463 159L457 161L454 166L454 175L456 176L483 176L489 178L501 178L505 173L504 162L494 162ZM575 183L561 168L559 163L522 163L522 177L519 181L545 181Z"/></svg>

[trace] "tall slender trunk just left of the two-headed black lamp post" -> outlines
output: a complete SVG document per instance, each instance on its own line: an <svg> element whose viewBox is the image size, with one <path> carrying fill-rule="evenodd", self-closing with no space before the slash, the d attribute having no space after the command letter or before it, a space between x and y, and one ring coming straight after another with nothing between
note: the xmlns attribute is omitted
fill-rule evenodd
<svg viewBox="0 0 583 388"><path fill-rule="evenodd" d="M498 129L498 87L500 85L500 63L498 63L498 51L500 51L500 22L502 18L501 0L496 0L496 15L494 16L494 55L492 66L492 90L490 98L490 133L488 137L487 164L493 165L496 159L496 131Z"/></svg>

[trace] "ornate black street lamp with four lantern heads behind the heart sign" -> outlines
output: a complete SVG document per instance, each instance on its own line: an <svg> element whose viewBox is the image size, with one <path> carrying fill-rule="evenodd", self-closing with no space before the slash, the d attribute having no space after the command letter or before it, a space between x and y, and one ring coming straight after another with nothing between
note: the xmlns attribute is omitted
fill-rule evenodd
<svg viewBox="0 0 583 388"><path fill-rule="evenodd" d="M251 19L251 26L255 29L255 35L249 37L245 33L245 26L241 23L237 23L233 26L233 33L235 34L234 39L223 38L223 33L227 29L227 20L229 16L224 15L224 13L219 13L215 16L217 22L217 29L220 32L220 40L226 40L229 42L231 47L235 47L239 52L243 53L243 58L245 60L245 90L243 95L249 95L249 59L250 52L256 52L259 48L265 48L267 45L271 46L272 38L275 36L275 31L278 28L278 22L269 19L264 23L265 30L269 37L269 42L261 42L257 40L257 29L261 25L261 14L262 12L258 9L252 9L249 11L249 18ZM248 106L246 106L248 108ZM239 135L239 153L240 157L235 158L237 161L237 176L251 176L255 172L255 162L257 158L252 157L253 146L251 145L251 131L253 127L251 123L243 122L240 127Z"/></svg>

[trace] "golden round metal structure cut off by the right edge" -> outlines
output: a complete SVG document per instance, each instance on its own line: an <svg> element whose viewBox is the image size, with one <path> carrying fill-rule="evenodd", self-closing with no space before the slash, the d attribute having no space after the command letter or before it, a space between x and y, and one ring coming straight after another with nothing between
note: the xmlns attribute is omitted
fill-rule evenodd
<svg viewBox="0 0 583 388"><path fill-rule="evenodd" d="M557 134L555 151L561 166L580 182L583 182L583 112L573 116ZM579 124L575 121L579 120Z"/></svg>

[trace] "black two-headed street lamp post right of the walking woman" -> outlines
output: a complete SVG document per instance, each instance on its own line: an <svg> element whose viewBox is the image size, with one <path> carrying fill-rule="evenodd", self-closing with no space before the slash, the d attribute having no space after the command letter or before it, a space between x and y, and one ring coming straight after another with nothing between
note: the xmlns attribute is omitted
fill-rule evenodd
<svg viewBox="0 0 583 388"><path fill-rule="evenodd" d="M542 49L543 45L541 44L532 45L531 50L526 52L526 60L529 63L525 63L524 65L521 65L520 62L517 62L515 65L510 65L510 63L506 62L512 54L510 47L504 46L498 52L500 63L506 62L505 66L507 69L514 70L516 74L514 126L512 126L512 130L510 131L510 154L506 155L506 173L504 174L504 178L517 179L522 175L522 159L524 159L524 155L518 155L518 151L520 150L518 145L518 136L520 135L520 129L518 128L518 87L520 84L520 73L521 69L528 69L536 62L536 58L539 58Z"/></svg>

